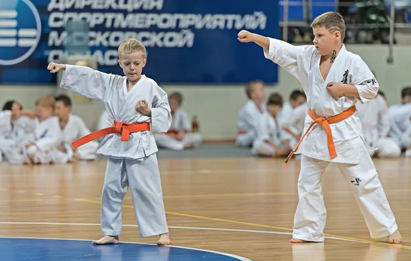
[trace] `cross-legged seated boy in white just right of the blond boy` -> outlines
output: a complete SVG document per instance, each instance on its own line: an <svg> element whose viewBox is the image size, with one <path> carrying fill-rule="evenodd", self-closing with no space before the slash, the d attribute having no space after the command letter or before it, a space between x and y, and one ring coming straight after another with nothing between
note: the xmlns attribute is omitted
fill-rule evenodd
<svg viewBox="0 0 411 261"><path fill-rule="evenodd" d="M188 148L199 147L201 144L201 134L191 132L191 121L187 112L184 112L182 109L182 103L183 95L181 93L173 92L169 96L173 121L167 133L154 134L158 147L182 151Z"/></svg>

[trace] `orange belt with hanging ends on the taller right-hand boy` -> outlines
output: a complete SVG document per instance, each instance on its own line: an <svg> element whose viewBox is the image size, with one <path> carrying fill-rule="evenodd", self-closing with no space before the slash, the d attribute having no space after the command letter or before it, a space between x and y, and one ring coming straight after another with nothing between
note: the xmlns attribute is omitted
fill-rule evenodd
<svg viewBox="0 0 411 261"><path fill-rule="evenodd" d="M288 155L288 158L286 160L286 164L284 164L284 166L287 166L288 161L290 161L292 155L294 155L295 151L297 151L301 141L303 141L303 138L308 134L311 127L314 126L314 124L316 124L316 123L323 126L323 128L325 129L325 132L327 132L327 143L328 143L329 156L331 158L335 158L337 156L337 152L336 152L336 147L334 147L334 140L332 139L332 133L331 133L331 128L329 127L329 124L339 123L340 121L344 121L349 116L354 114L354 112L356 112L356 106L355 105L352 106L351 108L349 108L348 110L346 110L344 112L341 112L340 114L337 114L337 115L329 117L329 118L325 118L325 117L317 116L316 114L314 114L314 112L312 112L312 110L310 108L308 108L308 115L310 115L311 119L313 119L314 121L310 124L310 126L306 130L306 133L301 137L301 139L299 140L299 142L297 143L295 148L292 149L290 155Z"/></svg>

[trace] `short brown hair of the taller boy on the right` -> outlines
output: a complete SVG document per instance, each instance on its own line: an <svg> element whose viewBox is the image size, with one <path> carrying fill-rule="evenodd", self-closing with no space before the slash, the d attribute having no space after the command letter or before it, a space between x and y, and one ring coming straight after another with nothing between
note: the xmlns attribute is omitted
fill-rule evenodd
<svg viewBox="0 0 411 261"><path fill-rule="evenodd" d="M345 38L345 21L338 12L325 12L317 16L311 23L311 27L325 27L331 34L338 31L341 34L341 42Z"/></svg>

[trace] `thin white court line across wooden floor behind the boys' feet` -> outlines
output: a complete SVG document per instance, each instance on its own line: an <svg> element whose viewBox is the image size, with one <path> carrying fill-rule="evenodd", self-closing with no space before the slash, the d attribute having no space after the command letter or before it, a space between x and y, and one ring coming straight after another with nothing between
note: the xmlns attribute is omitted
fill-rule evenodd
<svg viewBox="0 0 411 261"><path fill-rule="evenodd" d="M0 222L0 225L73 225L73 226L100 226L97 223L52 223L52 222ZM138 225L123 225L123 227L138 227ZM231 229L231 228L216 228L216 227L179 227L179 226L169 226L172 229L192 229L192 230L210 230L210 231L224 231L224 232L244 232L244 233L260 233L260 234L279 234L279 235L292 235L290 232L277 232L277 231L264 231L264 230L251 230L251 229ZM1 238L1 237L0 237ZM9 237L5 237L9 238ZM14 238L14 237L11 237ZM328 239L334 240L341 240L341 241L349 241L349 242L356 242L356 243L368 243L371 245L379 245L379 242L369 241L366 242L364 240L356 240L356 239L347 239L347 238L340 238L338 236L325 236ZM55 238L59 239L59 238ZM77 240L77 239L75 239ZM122 241L123 242L123 241ZM124 242L126 243L126 242ZM149 244L150 245L150 244ZM384 245L387 245L384 243ZM388 244L393 247L400 247L404 249L411 249L411 246L407 245L393 245Z"/></svg>

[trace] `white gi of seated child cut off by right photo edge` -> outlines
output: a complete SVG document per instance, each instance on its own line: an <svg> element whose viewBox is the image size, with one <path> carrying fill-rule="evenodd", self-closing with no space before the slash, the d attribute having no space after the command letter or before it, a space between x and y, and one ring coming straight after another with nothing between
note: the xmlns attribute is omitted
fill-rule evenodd
<svg viewBox="0 0 411 261"><path fill-rule="evenodd" d="M411 103L395 104L388 109L390 115L390 132L388 136L393 138L401 149L406 149L407 145L402 142L402 136L410 127Z"/></svg>

